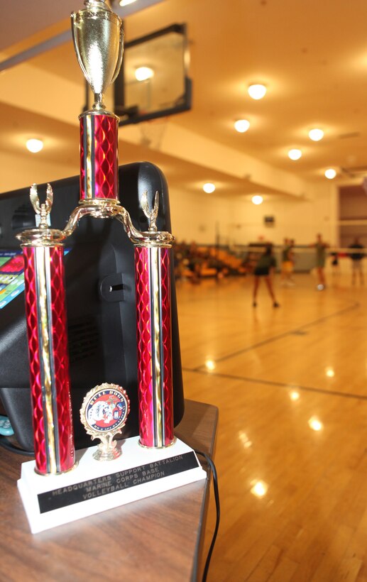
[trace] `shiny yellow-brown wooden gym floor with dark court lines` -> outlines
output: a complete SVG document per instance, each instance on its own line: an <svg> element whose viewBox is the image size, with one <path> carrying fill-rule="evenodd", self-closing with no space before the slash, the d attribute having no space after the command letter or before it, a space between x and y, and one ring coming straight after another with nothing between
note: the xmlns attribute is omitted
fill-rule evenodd
<svg viewBox="0 0 367 582"><path fill-rule="evenodd" d="M185 397L219 407L209 582L367 581L367 288L295 280L279 309L251 277L177 282Z"/></svg>

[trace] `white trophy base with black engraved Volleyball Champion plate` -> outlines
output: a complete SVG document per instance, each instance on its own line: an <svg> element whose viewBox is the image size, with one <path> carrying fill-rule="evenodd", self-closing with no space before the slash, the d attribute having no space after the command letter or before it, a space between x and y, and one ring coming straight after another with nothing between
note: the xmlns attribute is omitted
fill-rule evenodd
<svg viewBox="0 0 367 582"><path fill-rule="evenodd" d="M35 473L35 461L22 464L18 490L33 534L200 481L207 473L195 452L179 439L167 449L143 449L138 437L122 444L114 461L96 461L97 446L76 452L78 465L62 475Z"/></svg>

